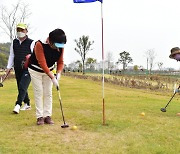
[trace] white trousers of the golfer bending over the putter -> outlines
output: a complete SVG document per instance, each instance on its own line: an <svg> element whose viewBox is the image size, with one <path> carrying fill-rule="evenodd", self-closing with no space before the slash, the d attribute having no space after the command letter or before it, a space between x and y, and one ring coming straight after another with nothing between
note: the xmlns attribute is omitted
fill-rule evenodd
<svg viewBox="0 0 180 154"><path fill-rule="evenodd" d="M40 73L28 68L36 106L36 117L52 115L52 81L46 73Z"/></svg>

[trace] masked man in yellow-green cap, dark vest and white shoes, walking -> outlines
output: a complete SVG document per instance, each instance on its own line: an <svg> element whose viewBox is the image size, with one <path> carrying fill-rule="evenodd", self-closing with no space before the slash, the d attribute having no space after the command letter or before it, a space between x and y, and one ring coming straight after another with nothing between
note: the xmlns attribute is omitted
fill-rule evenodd
<svg viewBox="0 0 180 154"><path fill-rule="evenodd" d="M27 68L24 68L24 62L27 55L33 52L34 41L27 36L27 25L24 23L19 23L16 26L17 38L15 38L10 47L10 55L7 64L7 73L14 67L15 77L18 88L17 101L13 112L15 114L19 113L19 110L24 102L24 106L21 110L31 109L30 99L28 96L28 86L30 84L31 78Z"/></svg>

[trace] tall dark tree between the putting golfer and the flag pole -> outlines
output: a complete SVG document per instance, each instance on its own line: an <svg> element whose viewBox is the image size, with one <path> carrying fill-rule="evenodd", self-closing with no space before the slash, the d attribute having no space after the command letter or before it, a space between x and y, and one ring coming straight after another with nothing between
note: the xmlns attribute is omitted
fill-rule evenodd
<svg viewBox="0 0 180 154"><path fill-rule="evenodd" d="M83 68L82 71L83 74L85 74L84 64L86 60L86 55L88 51L92 50L91 45L94 43L94 41L90 41L89 36L84 36L84 35L80 37L78 40L75 39L74 41L76 42L76 46L77 46L77 48L74 48L74 50L77 53L79 53L79 55L81 56L82 68Z"/></svg>

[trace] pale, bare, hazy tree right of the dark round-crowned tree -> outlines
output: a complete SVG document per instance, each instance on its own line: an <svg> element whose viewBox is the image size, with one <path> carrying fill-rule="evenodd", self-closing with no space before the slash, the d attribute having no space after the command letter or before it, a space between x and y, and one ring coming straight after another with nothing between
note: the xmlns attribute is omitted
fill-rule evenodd
<svg viewBox="0 0 180 154"><path fill-rule="evenodd" d="M154 67L155 51L154 49L149 49L145 52L145 57L147 59L147 70L149 66L149 73L151 74L152 68Z"/></svg>

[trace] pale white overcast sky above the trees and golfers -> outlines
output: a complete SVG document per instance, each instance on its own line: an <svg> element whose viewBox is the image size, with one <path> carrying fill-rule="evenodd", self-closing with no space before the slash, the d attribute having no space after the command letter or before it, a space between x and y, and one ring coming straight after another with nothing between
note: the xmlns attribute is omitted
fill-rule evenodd
<svg viewBox="0 0 180 154"><path fill-rule="evenodd" d="M55 28L62 28L67 34L65 63L80 60L74 51L74 39L89 35L94 40L93 50L87 57L100 61L101 56L101 3L74 4L73 0L22 0L29 4L32 15L29 37L45 40ZM10 7L17 0L1 0L0 4ZM180 64L169 59L170 49L180 46L179 0L104 0L104 52L113 54L113 61L119 53L127 51L134 60L132 65L146 67L145 52L153 49L155 63L164 67L179 69ZM0 30L1 32L1 30ZM3 33L0 33L3 36ZM1 42L8 41L5 36ZM155 65L157 66L157 65ZM157 67L154 67L157 68Z"/></svg>

